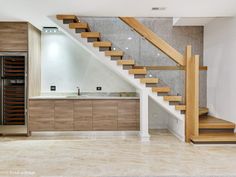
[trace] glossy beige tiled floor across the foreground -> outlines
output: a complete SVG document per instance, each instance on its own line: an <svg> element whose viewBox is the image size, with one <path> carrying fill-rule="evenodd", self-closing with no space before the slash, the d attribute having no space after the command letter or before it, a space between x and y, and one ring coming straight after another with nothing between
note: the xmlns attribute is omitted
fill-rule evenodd
<svg viewBox="0 0 236 177"><path fill-rule="evenodd" d="M137 137L8 137L0 176L236 175L236 146L194 146L166 131Z"/></svg>

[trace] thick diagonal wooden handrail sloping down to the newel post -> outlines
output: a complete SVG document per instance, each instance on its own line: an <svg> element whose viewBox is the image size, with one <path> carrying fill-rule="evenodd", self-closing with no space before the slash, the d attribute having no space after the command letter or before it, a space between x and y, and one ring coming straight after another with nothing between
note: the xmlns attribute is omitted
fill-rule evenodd
<svg viewBox="0 0 236 177"><path fill-rule="evenodd" d="M151 42L154 46L159 48L162 52L168 55L171 59L173 59L176 63L181 66L185 65L184 56L179 53L176 49L170 46L166 41L161 39L156 33L152 32L145 25L140 23L133 17L119 17L123 22L133 28L140 35L145 37L149 42Z"/></svg>

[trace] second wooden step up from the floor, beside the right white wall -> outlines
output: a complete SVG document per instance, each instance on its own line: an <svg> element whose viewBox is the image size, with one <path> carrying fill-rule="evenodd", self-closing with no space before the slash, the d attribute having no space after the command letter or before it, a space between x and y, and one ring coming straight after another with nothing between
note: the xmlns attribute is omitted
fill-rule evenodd
<svg viewBox="0 0 236 177"><path fill-rule="evenodd" d="M200 129L234 129L235 124L213 116L204 116L199 120Z"/></svg>

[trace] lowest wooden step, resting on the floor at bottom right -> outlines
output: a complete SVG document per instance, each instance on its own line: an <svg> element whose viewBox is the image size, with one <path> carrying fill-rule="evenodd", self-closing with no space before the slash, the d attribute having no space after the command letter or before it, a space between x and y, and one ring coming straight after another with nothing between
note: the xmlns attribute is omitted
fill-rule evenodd
<svg viewBox="0 0 236 177"><path fill-rule="evenodd" d="M236 134L204 133L192 136L193 143L236 143Z"/></svg>

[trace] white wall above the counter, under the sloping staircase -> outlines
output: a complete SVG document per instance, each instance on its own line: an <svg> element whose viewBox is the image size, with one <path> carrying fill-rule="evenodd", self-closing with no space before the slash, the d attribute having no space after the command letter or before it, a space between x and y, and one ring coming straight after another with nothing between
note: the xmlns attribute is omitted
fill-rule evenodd
<svg viewBox="0 0 236 177"><path fill-rule="evenodd" d="M64 34L42 35L42 92L135 92L135 88Z"/></svg>

